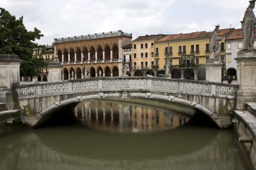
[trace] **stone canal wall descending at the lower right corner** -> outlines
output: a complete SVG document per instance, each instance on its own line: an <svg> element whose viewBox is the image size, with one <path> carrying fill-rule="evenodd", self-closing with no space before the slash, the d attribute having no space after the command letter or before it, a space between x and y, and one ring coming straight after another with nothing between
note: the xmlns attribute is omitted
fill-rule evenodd
<svg viewBox="0 0 256 170"><path fill-rule="evenodd" d="M253 169L256 169L256 103L246 103L246 110L234 110L234 129L251 161Z"/></svg>

